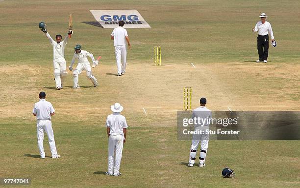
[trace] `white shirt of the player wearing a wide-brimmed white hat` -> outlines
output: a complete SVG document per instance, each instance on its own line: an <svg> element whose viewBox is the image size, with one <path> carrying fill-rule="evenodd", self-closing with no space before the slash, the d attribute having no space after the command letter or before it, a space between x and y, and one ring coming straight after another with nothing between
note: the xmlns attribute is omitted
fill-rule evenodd
<svg viewBox="0 0 300 188"><path fill-rule="evenodd" d="M127 128L126 119L120 113L113 113L107 116L106 126L110 127L109 134L111 135L124 135L123 128Z"/></svg>

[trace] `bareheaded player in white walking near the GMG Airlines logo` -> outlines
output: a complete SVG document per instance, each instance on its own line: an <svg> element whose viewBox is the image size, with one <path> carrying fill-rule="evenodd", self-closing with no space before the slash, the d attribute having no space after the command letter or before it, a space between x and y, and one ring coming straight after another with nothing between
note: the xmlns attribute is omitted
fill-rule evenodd
<svg viewBox="0 0 300 188"><path fill-rule="evenodd" d="M117 67L118 67L118 74L117 74L118 76L122 76L122 74L125 74L125 69L126 69L127 51L126 51L125 40L127 41L129 49L131 48L127 31L126 29L123 28L124 24L125 24L124 21L119 21L119 27L115 28L110 36L110 39L114 40L115 54L116 54ZM122 66L121 66L121 60L122 60Z"/></svg>

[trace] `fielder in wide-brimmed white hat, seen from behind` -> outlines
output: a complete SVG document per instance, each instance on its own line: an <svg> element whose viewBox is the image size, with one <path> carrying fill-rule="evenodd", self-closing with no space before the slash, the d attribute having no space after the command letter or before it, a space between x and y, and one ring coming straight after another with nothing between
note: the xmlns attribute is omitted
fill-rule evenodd
<svg viewBox="0 0 300 188"><path fill-rule="evenodd" d="M114 112L107 116L106 132L108 140L108 170L106 175L121 176L120 164L123 151L123 143L126 139L126 119L120 112L123 110L121 104L111 105L110 109Z"/></svg>

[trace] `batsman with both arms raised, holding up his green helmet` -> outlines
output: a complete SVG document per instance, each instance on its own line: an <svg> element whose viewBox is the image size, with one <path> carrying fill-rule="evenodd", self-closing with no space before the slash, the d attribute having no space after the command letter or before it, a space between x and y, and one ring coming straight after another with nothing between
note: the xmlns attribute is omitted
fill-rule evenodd
<svg viewBox="0 0 300 188"><path fill-rule="evenodd" d="M61 35L56 35L54 41L50 34L47 32L47 25L44 22L39 23L39 28L46 34L53 47L53 66L54 66L54 80L56 83L56 89L62 89L63 81L67 76L66 60L65 60L65 46L68 42L68 36L71 36L72 30L69 30L67 36L63 41Z"/></svg>

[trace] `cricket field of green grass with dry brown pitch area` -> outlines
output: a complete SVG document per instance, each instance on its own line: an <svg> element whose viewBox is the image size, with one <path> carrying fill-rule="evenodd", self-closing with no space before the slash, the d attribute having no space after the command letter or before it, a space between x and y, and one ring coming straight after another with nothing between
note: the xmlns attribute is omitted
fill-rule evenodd
<svg viewBox="0 0 300 188"><path fill-rule="evenodd" d="M33 188L299 188L299 141L210 141L206 167L190 168L190 141L177 141L175 116L182 87L190 85L193 107L207 95L213 110L229 101L234 110L300 110L299 6L299 0L0 1L0 178L31 178ZM116 73L112 30L82 23L95 21L93 9L137 9L151 26L127 29L133 49L121 79L110 75ZM263 65L254 63L257 34L251 32L261 12L269 16L278 45L270 45ZM66 87L53 89L52 48L38 23L45 21L52 37L64 36L69 14L74 34L65 49L67 65L77 43L101 55L99 87L88 87L83 73L84 87L72 90L69 73ZM162 47L162 67L150 67L154 45ZM231 68L212 68L220 65ZM56 110L59 159L38 158L31 112L41 90ZM129 125L120 177L104 175L104 124L115 102L124 105ZM50 156L47 137L44 147ZM236 177L222 178L224 167Z"/></svg>

